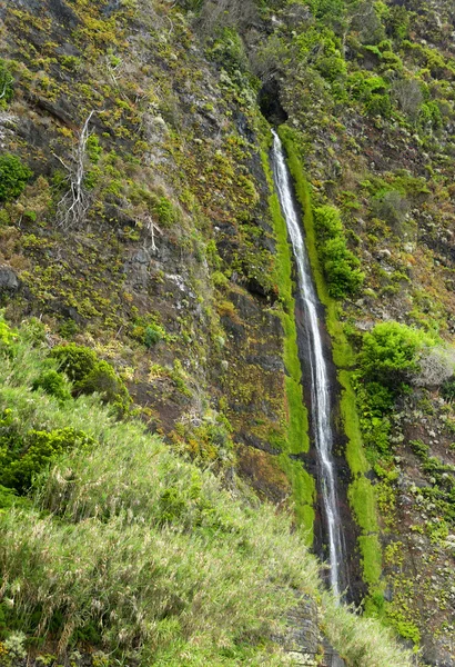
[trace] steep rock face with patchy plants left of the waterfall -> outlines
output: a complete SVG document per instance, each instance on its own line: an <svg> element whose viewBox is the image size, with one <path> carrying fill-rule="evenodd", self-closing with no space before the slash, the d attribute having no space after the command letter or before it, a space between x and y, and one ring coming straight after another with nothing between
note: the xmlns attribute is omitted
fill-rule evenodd
<svg viewBox="0 0 455 667"><path fill-rule="evenodd" d="M2 141L33 171L1 228L8 316L95 345L151 429L226 469L239 446L253 486L284 499L283 334L246 88L165 2L0 7Z"/></svg>

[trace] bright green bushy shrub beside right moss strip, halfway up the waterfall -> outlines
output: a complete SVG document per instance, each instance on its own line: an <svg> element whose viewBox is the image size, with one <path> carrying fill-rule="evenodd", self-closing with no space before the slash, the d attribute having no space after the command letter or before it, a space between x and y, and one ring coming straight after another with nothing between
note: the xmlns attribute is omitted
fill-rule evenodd
<svg viewBox="0 0 455 667"><path fill-rule="evenodd" d="M347 248L338 210L332 206L316 208L314 223L328 293L336 299L354 295L363 283L364 273L360 260Z"/></svg>

